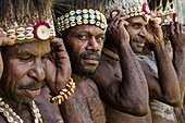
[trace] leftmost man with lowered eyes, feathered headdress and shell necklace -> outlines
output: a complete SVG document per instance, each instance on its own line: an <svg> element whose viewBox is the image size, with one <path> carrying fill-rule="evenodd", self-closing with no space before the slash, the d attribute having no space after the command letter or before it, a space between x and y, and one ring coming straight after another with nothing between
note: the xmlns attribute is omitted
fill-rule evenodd
<svg viewBox="0 0 185 123"><path fill-rule="evenodd" d="M51 1L1 0L0 4L3 61L0 79L0 122L63 122L59 107L51 103L49 97L44 97L49 94L41 94L42 89L47 89L47 84L52 100L59 101L59 98L54 97L63 93L63 89L70 93L65 85L71 85L69 56L61 39L53 39ZM53 47L55 50L51 49ZM51 51L53 63L48 59ZM50 76L54 77L51 79ZM71 86L69 88L74 89Z"/></svg>

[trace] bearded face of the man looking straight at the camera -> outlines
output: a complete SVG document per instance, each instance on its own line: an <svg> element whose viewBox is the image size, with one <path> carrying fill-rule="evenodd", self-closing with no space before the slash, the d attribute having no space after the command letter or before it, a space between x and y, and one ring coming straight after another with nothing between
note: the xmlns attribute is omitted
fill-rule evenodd
<svg viewBox="0 0 185 123"><path fill-rule="evenodd" d="M92 75L99 64L103 41L104 32L95 25L71 28L64 44L73 72L87 77Z"/></svg>

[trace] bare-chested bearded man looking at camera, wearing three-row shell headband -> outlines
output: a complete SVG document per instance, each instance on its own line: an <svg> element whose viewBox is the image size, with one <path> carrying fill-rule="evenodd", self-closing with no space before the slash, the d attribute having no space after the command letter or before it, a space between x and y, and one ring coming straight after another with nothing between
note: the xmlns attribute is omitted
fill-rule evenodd
<svg viewBox="0 0 185 123"><path fill-rule="evenodd" d="M106 123L98 88L89 78L99 64L106 38L104 5L103 0L53 2L57 30L64 40L76 84L75 94L61 104L66 123Z"/></svg>

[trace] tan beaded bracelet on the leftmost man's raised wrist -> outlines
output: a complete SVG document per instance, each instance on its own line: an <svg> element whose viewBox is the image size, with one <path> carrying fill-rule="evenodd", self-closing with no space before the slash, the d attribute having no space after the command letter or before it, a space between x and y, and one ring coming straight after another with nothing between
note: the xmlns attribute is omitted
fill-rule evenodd
<svg viewBox="0 0 185 123"><path fill-rule="evenodd" d="M62 89L60 94L51 98L51 101L55 101L57 104L61 104L62 101L66 100L71 94L74 93L75 83L73 78L70 77L70 82L66 84L66 89Z"/></svg>

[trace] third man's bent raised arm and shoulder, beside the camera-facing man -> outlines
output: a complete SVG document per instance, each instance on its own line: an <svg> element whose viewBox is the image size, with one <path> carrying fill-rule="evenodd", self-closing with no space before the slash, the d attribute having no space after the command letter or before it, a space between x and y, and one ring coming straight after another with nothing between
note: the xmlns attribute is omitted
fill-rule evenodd
<svg viewBox="0 0 185 123"><path fill-rule="evenodd" d="M107 35L112 38L107 37L104 44L104 47L118 50L120 61L102 57L94 81L106 103L122 112L145 115L148 111L147 83L140 64L130 47L130 35L122 26L127 25L125 19L116 16L112 20ZM111 40L114 40L114 44L110 42Z"/></svg>

